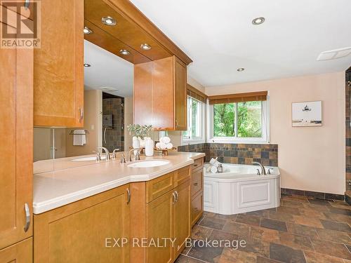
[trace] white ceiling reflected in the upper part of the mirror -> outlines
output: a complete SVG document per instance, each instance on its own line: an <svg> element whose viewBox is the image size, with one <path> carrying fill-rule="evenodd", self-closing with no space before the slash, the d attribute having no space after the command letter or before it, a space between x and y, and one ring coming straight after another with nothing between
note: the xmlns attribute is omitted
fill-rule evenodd
<svg viewBox="0 0 351 263"><path fill-rule="evenodd" d="M84 40L84 63L91 65L91 67L84 67L86 90L110 87L118 90L108 91L108 93L121 97L133 95L133 64L131 62Z"/></svg>

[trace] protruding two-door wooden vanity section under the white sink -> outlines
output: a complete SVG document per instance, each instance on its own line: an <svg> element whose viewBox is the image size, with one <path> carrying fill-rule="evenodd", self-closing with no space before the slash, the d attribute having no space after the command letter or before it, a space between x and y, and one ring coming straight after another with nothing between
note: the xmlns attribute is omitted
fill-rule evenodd
<svg viewBox="0 0 351 263"><path fill-rule="evenodd" d="M131 184L131 236L168 240L164 247L131 248L131 262L174 262L190 238L190 166ZM159 239L157 239L159 238Z"/></svg>

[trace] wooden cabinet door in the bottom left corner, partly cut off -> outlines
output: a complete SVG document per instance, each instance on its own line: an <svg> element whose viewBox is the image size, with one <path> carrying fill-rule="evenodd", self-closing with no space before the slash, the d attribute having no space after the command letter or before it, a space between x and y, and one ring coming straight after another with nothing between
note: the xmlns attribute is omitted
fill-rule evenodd
<svg viewBox="0 0 351 263"><path fill-rule="evenodd" d="M33 238L10 245L0 250L1 263L32 263L33 262Z"/></svg>

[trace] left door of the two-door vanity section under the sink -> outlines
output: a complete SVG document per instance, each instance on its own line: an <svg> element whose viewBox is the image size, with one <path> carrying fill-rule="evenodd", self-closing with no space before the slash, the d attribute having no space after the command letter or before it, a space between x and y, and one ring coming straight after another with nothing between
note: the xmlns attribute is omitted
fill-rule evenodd
<svg viewBox="0 0 351 263"><path fill-rule="evenodd" d="M147 204L147 237L157 242L164 238L173 237L173 191L168 191L163 196ZM173 262L173 246L169 240L163 246L147 248L147 262Z"/></svg>

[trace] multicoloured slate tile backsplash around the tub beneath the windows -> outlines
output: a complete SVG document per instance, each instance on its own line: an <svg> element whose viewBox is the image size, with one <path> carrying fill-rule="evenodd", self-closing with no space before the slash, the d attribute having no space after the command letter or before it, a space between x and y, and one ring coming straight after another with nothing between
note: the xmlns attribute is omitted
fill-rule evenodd
<svg viewBox="0 0 351 263"><path fill-rule="evenodd" d="M264 166L278 166L277 144L201 143L180 146L178 151L204 152L207 162L218 157L221 163L251 164L258 161Z"/></svg>

